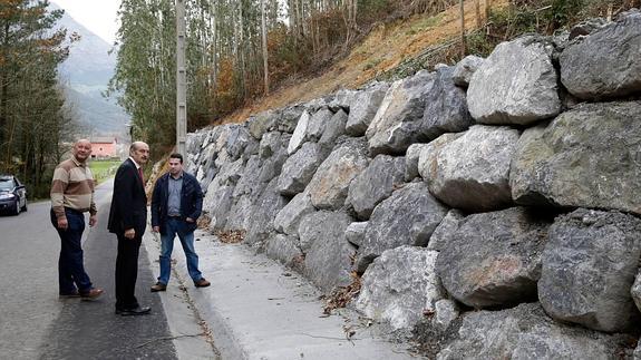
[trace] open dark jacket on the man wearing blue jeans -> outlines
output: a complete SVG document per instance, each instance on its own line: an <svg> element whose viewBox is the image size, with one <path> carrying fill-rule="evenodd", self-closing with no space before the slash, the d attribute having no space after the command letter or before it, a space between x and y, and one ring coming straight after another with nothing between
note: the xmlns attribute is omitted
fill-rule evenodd
<svg viewBox="0 0 641 360"><path fill-rule="evenodd" d="M169 201L169 173L161 176L154 186L152 195L152 226L161 227L161 234L165 233ZM196 230L196 220L203 211L203 189L198 181L191 174L183 172L183 187L181 188L181 218L191 217L193 223L185 223L186 230Z"/></svg>

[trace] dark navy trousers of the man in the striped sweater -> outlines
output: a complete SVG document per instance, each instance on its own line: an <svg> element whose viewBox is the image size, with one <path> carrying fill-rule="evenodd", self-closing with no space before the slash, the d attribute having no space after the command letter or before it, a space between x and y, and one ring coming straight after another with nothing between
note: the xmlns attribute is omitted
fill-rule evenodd
<svg viewBox="0 0 641 360"><path fill-rule="evenodd" d="M76 291L88 292L91 281L85 272L82 254L82 232L85 231L85 215L81 212L65 208L67 230L58 228L58 220L54 210L50 212L51 224L60 236L60 257L58 259L58 284L61 295Z"/></svg>

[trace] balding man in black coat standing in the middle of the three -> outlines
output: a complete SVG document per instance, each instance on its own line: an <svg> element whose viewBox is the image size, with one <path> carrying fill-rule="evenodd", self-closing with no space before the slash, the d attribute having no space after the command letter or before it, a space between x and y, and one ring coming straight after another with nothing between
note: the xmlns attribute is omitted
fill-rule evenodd
<svg viewBox="0 0 641 360"><path fill-rule="evenodd" d="M108 230L118 236L116 257L116 314L143 315L152 309L140 307L134 292L138 278L138 253L147 226L147 195L143 165L149 159L149 146L135 142L129 158L119 167L114 179L114 195Z"/></svg>

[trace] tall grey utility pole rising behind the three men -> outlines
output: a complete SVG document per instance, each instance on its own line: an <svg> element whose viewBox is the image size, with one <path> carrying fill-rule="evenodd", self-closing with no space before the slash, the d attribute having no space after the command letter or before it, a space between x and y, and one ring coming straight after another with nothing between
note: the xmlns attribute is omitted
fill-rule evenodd
<svg viewBox="0 0 641 360"><path fill-rule="evenodd" d="M187 75L185 65L185 2L176 0L176 150L183 156L187 142Z"/></svg>

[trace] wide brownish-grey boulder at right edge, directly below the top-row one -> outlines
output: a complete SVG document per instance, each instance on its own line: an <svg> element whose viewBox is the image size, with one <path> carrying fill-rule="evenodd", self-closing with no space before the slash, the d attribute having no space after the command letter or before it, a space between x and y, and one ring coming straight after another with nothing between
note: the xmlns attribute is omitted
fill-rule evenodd
<svg viewBox="0 0 641 360"><path fill-rule="evenodd" d="M509 184L523 205L641 214L641 101L584 104L525 130Z"/></svg>

